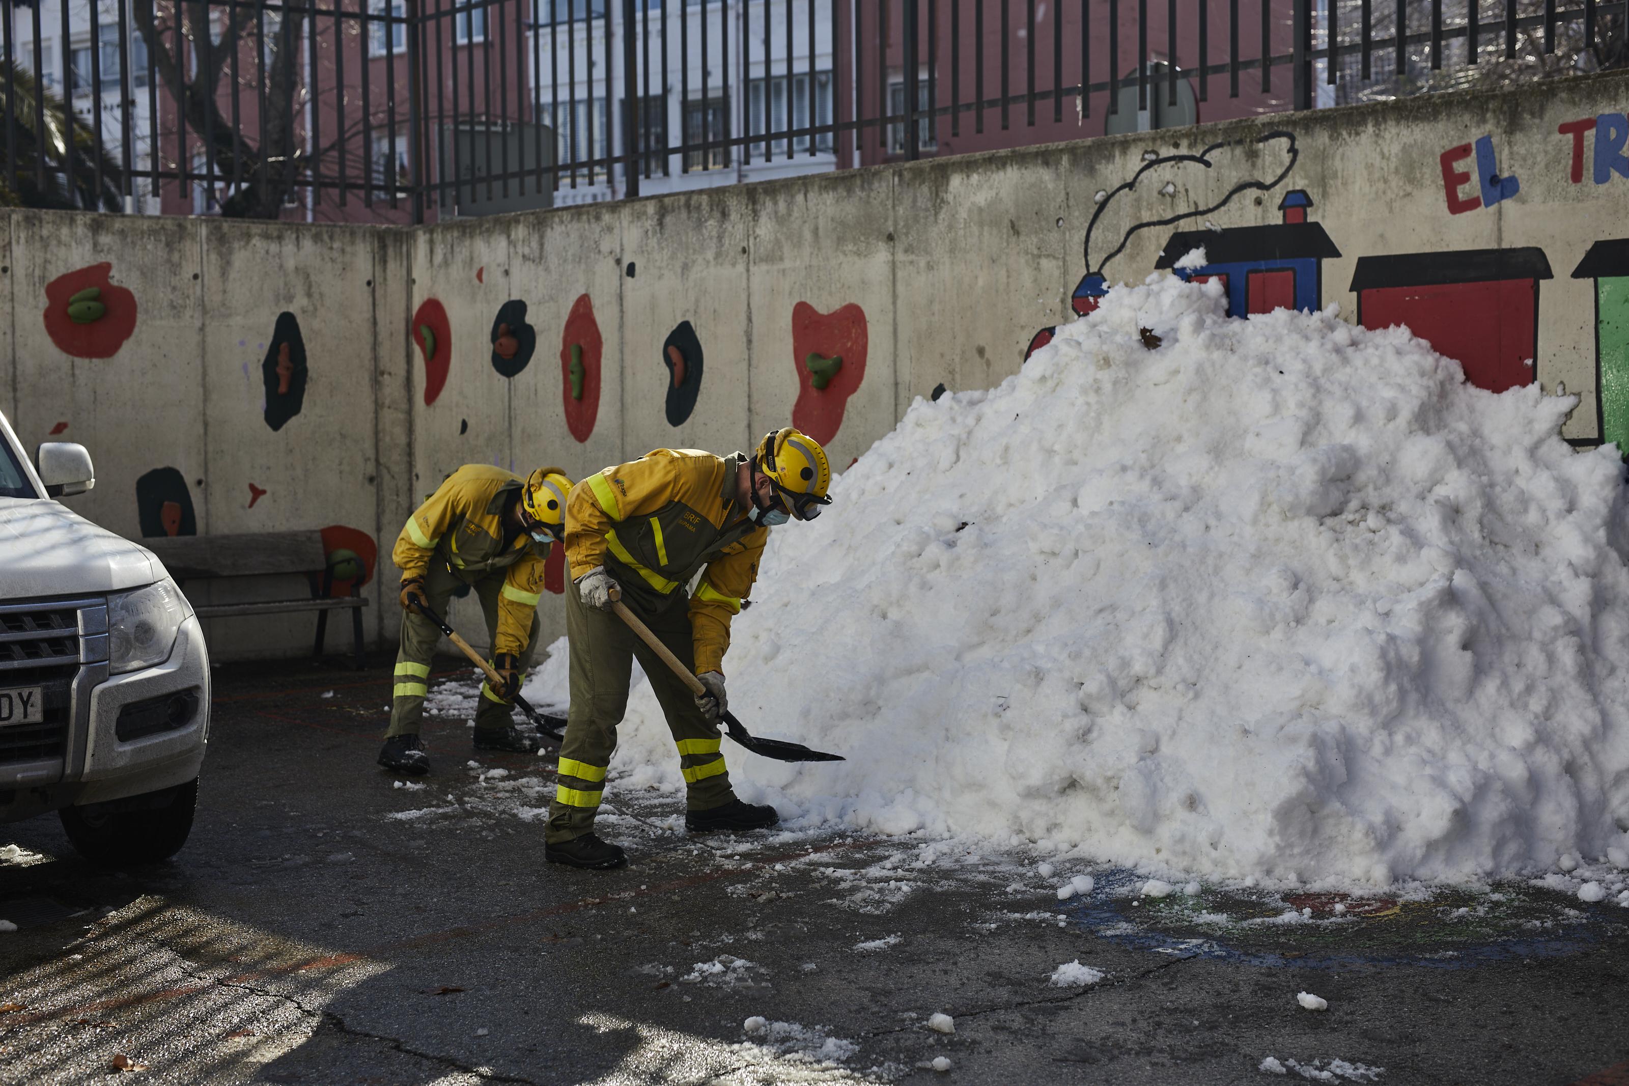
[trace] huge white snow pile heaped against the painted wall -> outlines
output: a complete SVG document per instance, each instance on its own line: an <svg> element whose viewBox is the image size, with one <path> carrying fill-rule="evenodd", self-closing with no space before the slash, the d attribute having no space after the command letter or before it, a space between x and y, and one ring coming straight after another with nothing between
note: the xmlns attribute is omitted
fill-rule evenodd
<svg viewBox="0 0 1629 1086"><path fill-rule="evenodd" d="M1603 855L1629 573L1614 451L1557 436L1575 404L1466 386L1401 329L1113 290L997 389L912 404L772 534L731 708L849 760L727 744L733 778L811 821L1218 878ZM648 687L634 767L678 777Z"/></svg>

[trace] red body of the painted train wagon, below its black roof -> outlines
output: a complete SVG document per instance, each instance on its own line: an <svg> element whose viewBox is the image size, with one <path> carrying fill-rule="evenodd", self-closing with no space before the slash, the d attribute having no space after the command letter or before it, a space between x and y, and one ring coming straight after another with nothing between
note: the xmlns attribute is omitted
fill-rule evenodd
<svg viewBox="0 0 1629 1086"><path fill-rule="evenodd" d="M1363 327L1406 324L1432 348L1458 358L1464 379L1489 392L1531 384L1538 327L1538 283L1378 287L1359 300Z"/></svg>

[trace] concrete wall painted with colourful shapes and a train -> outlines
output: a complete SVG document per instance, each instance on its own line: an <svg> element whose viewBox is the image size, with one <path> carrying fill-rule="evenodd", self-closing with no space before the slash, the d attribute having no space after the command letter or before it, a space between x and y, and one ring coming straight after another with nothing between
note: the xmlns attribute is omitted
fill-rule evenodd
<svg viewBox="0 0 1629 1086"><path fill-rule="evenodd" d="M912 397L1015 373L1038 331L1072 319L1083 277L1140 280L1175 231L1204 231L1212 262L1232 252L1259 269L1282 265L1313 231L1264 243L1238 228L1282 223L1285 195L1302 192L1339 251L1302 265L1303 293L1305 269L1321 272L1313 304L1357 319L1349 287L1360 257L1435 254L1385 265L1390 278L1365 296L1365 317L1385 295L1420 321L1450 306L1443 335L1497 326L1463 348L1468 368L1487 365L1474 352L1521 353L1523 335L1536 334L1526 374L1582 397L1565 435L1588 443L1601 433L1595 280L1574 270L1595 243L1629 238L1629 158L1613 151L1629 130L1616 119L1626 91L1622 77L1564 80L420 230L8 212L0 409L31 446L54 430L90 446L98 487L73 508L119 532L140 534L137 480L156 467L184 479L199 532L365 532L380 552L370 637L391 640L389 547L411 508L459 464L525 472L546 462L580 477L663 444L749 448L798 412L798 350L821 335L801 304L865 329L863 381L847 389L828 443L842 467ZM1598 132L1561 130L1596 117ZM1486 184L1478 142L1482 166L1492 153ZM1531 252L1510 251L1548 261L1525 331L1486 285L1463 282L1486 278L1464 256L1479 249L1505 251L1497 274L1507 278L1533 264ZM111 357L85 358L50 334L47 283L98 262L112 265L111 285L134 291L138 319ZM1432 282L1409 278L1419 269ZM411 332L428 301L445 308L451 337L440 344L450 363L430 404ZM526 303L536 350L502 376L492 329L508 301ZM567 412L580 405L567 392L562 337L573 308L588 304L603 340L598 414L573 435ZM300 414L274 430L262 417L262 363L282 313L298 321L308 379ZM795 313L806 324L797 345ZM694 412L671 425L661 345L681 321L705 361ZM1603 350L1608 388L1629 383L1614 368L1624 352L1613 350ZM829 409L842 381L805 391L805 407ZM469 602L454 620L474 632ZM552 638L559 604L546 599L542 617ZM300 651L311 622L220 620L210 637L220 656Z"/></svg>

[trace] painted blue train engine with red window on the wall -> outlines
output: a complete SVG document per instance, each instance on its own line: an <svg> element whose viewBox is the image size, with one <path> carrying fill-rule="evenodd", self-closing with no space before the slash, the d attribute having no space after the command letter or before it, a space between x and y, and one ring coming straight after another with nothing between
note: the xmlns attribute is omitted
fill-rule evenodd
<svg viewBox="0 0 1629 1086"><path fill-rule="evenodd" d="M1282 223L1178 231L1165 243L1155 267L1173 269L1196 283L1220 280L1228 316L1316 309L1323 304L1323 262L1341 251L1319 223L1306 220L1311 205L1311 197L1295 189L1279 204ZM1201 247L1204 267L1173 267Z"/></svg>

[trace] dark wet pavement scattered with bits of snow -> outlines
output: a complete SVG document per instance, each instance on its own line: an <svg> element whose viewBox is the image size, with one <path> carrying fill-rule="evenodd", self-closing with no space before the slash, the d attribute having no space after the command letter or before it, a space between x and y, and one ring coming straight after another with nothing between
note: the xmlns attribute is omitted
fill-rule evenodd
<svg viewBox="0 0 1629 1086"><path fill-rule="evenodd" d="M925 839L687 837L681 796L616 782L634 865L567 871L552 759L477 754L454 712L422 788L373 765L381 664L218 669L171 863L0 827L0 1083L1629 1084L1609 899L1139 897ZM1070 874L1095 886L1059 900ZM1067 962L1101 979L1052 983Z"/></svg>

